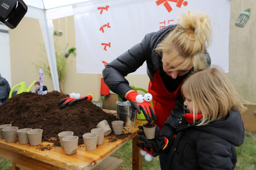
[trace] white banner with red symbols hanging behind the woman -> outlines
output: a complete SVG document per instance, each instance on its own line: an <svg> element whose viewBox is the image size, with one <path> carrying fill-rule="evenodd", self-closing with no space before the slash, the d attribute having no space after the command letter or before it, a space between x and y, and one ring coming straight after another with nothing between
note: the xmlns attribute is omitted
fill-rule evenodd
<svg viewBox="0 0 256 170"><path fill-rule="evenodd" d="M185 10L204 12L214 21L208 52L212 65L228 72L229 0L96 0L73 5L77 73L102 73L145 34L177 23ZM146 63L135 74L146 74Z"/></svg>

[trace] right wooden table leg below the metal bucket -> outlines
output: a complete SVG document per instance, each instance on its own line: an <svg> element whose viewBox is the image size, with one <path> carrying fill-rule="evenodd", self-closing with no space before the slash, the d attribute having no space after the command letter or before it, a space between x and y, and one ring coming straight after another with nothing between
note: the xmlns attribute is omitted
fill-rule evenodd
<svg viewBox="0 0 256 170"><path fill-rule="evenodd" d="M132 169L142 170L142 155L140 154L140 149L136 145L139 142L137 137L132 139Z"/></svg>

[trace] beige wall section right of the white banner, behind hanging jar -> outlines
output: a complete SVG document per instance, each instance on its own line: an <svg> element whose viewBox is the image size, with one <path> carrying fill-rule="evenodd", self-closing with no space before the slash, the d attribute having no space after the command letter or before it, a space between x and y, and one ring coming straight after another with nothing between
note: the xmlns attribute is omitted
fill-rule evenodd
<svg viewBox="0 0 256 170"><path fill-rule="evenodd" d="M242 10L242 1L231 0L228 78L239 95L256 103L256 1L243 1L243 10L252 8L251 18L243 28L234 22Z"/></svg>

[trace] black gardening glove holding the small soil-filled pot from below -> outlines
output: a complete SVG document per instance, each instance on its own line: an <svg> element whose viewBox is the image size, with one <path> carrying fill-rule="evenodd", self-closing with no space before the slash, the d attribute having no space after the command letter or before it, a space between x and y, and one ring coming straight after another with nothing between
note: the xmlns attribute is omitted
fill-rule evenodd
<svg viewBox="0 0 256 170"><path fill-rule="evenodd" d="M139 129L143 130L142 126L138 127ZM152 156L156 157L160 153L164 152L166 153L169 150L169 145L168 143L172 143L173 137L168 137L168 139L163 136L161 133L159 133L159 127L156 127L155 130L155 138L154 139L147 139L145 137L144 131L137 131L137 138L141 140L144 143L143 146L146 146L145 149L147 149L149 152L151 152L151 149L153 150ZM147 147L148 145L148 147ZM137 146L142 146L142 144L138 144ZM144 149L144 148L143 148Z"/></svg>

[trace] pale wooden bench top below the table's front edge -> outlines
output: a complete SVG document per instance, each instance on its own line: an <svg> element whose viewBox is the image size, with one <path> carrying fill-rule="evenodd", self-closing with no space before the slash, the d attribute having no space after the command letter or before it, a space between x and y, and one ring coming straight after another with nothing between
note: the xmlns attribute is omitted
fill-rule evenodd
<svg viewBox="0 0 256 170"><path fill-rule="evenodd" d="M120 169L121 164L123 163L123 159L118 159L109 156L104 161L102 161L99 165L94 166L93 170L118 170Z"/></svg>

